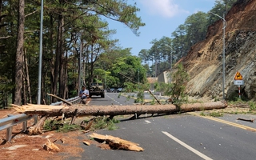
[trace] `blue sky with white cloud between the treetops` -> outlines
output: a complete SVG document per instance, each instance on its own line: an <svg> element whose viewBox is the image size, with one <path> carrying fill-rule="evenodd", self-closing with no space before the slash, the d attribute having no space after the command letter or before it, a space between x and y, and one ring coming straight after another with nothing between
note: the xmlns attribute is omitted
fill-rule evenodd
<svg viewBox="0 0 256 160"><path fill-rule="evenodd" d="M146 26L138 31L139 36L121 22L108 21L109 29L117 30L111 36L119 39L118 46L132 48L131 53L138 55L142 49L150 49L150 42L163 36L171 37L171 33L183 24L188 16L198 11L208 12L213 8L215 0L128 0L130 4L137 3L140 11L137 13Z"/></svg>

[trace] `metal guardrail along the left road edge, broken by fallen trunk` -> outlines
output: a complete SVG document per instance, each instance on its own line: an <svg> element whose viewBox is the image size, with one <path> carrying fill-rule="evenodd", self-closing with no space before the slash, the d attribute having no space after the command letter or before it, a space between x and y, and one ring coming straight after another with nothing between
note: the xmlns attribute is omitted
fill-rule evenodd
<svg viewBox="0 0 256 160"><path fill-rule="evenodd" d="M76 103L80 100L81 98L79 97L74 97L74 98L69 98L66 99L67 102L71 103ZM62 105L63 102L54 102L50 104L50 106L59 106ZM7 118L2 118L0 119L0 130L5 130L6 129L6 141L10 142L11 141L11 134L13 130L13 126L18 125L19 123L22 123L22 131L26 131L27 129L27 121L30 120L31 118L35 118L36 115L27 115L27 114L16 114L12 115L9 114ZM35 120L34 120L35 122Z"/></svg>

